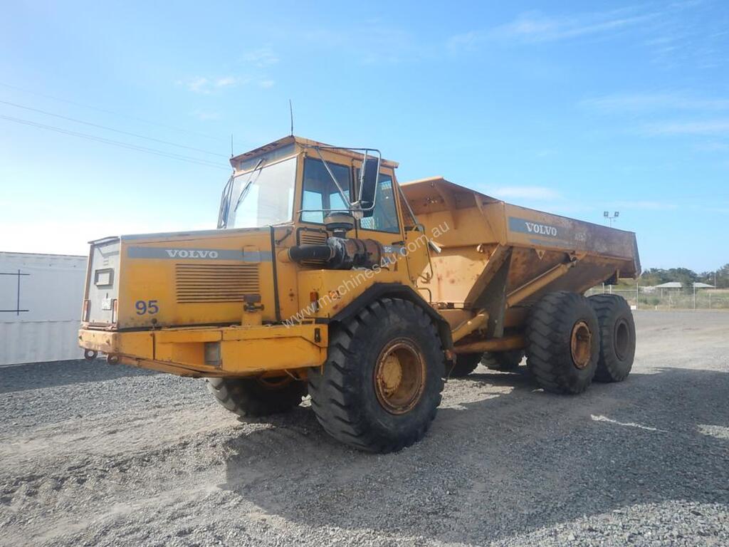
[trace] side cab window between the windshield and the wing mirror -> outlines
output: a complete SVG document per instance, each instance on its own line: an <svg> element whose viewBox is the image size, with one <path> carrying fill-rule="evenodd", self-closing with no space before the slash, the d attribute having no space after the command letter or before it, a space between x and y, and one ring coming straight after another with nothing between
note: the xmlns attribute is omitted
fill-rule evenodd
<svg viewBox="0 0 729 547"><path fill-rule="evenodd" d="M339 183L344 195L349 199L350 169L338 163L327 162ZM306 158L304 163L304 185L301 200L301 221L322 224L325 211L346 211L347 203L342 199L332 177L321 160ZM308 211L307 209L325 209L325 211Z"/></svg>

